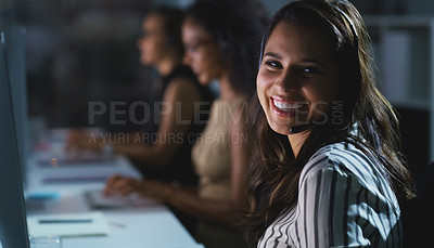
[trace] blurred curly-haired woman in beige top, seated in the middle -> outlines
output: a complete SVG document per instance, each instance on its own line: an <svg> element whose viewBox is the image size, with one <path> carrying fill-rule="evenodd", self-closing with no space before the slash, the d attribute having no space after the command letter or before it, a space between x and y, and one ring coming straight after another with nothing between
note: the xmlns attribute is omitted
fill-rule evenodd
<svg viewBox="0 0 434 248"><path fill-rule="evenodd" d="M245 110L255 89L264 8L253 0L199 0L182 25L184 63L203 84L219 83L208 123L192 151L196 188L113 177L105 194L139 193L197 220L195 237L207 248L245 247L235 229L244 204L250 161Z"/></svg>

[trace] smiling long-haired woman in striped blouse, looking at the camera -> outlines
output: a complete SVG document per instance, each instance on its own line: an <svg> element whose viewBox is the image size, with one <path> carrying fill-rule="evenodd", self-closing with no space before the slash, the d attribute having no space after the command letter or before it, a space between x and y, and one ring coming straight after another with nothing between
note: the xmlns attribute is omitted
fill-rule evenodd
<svg viewBox="0 0 434 248"><path fill-rule="evenodd" d="M358 11L347 0L293 1L272 17L263 50L248 239L400 247L399 204L413 196L412 181Z"/></svg>

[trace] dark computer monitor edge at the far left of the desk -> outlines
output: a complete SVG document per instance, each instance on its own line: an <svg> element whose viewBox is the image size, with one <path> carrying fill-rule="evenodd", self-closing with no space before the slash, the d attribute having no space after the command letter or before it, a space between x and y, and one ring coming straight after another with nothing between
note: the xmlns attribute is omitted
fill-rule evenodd
<svg viewBox="0 0 434 248"><path fill-rule="evenodd" d="M3 248L28 248L16 119L4 32L0 32L0 242Z"/></svg>

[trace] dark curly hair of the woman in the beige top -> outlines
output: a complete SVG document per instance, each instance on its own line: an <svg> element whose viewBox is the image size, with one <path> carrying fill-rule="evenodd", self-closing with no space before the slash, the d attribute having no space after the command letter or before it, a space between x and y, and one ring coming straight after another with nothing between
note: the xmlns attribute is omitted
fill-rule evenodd
<svg viewBox="0 0 434 248"><path fill-rule="evenodd" d="M197 0L186 12L214 35L228 61L230 83L251 95L255 89L261 34L268 14L256 0Z"/></svg>

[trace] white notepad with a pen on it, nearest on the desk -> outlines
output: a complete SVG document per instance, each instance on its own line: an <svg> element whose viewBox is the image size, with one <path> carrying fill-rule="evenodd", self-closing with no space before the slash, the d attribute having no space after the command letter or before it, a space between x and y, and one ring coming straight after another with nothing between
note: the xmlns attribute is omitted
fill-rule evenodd
<svg viewBox="0 0 434 248"><path fill-rule="evenodd" d="M30 236L100 236L110 233L108 224L99 211L31 216L27 217L27 225Z"/></svg>

